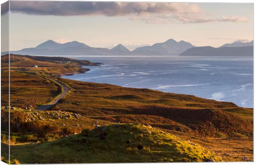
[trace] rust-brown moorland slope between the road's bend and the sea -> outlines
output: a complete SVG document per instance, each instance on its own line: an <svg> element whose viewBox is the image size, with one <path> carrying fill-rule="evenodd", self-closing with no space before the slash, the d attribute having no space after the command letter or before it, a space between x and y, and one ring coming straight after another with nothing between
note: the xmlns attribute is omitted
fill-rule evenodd
<svg viewBox="0 0 256 165"><path fill-rule="evenodd" d="M53 107L55 110L82 113L112 122L120 121L118 118L126 123L144 121L160 128L208 137L219 137L220 134L225 137L252 136L253 111L233 103L148 89L59 80L72 87L73 91ZM228 111L233 108L233 111ZM240 117L235 111L238 108L240 113L250 114L250 117ZM168 119L168 122L158 120L159 117ZM157 122L152 123L154 120Z"/></svg>

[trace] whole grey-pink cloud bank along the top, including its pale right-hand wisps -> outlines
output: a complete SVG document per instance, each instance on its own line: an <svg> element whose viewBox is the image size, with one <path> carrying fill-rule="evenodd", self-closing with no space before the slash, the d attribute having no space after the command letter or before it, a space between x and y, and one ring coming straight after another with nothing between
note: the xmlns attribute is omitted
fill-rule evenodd
<svg viewBox="0 0 256 165"><path fill-rule="evenodd" d="M245 17L211 18L197 4L173 2L68 2L10 1L14 13L53 16L128 16L150 24L205 23L212 21L246 22ZM5 14L7 10L3 10Z"/></svg>

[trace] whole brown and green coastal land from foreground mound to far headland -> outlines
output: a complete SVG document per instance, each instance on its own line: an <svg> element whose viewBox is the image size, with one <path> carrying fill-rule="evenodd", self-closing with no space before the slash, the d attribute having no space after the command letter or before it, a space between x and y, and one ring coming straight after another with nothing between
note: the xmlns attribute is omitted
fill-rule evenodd
<svg viewBox="0 0 256 165"><path fill-rule="evenodd" d="M97 65L90 61L11 57L14 57L10 63L12 161L253 160L252 108L192 95L59 78L59 75L86 71L81 68L85 64ZM5 127L8 123L5 107L8 104L8 63L4 58L1 57L3 150L8 142L8 127ZM38 68L31 67L34 64ZM35 110L36 106L49 103L62 92L54 79L71 90L49 111ZM146 127L147 124L153 129ZM68 138L62 139L65 136ZM3 156L6 160L7 156Z"/></svg>

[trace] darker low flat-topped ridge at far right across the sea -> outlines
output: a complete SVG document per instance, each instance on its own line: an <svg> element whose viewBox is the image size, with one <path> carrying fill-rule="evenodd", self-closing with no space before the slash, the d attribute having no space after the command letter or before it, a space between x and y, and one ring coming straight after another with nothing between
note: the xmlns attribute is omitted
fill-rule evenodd
<svg viewBox="0 0 256 165"><path fill-rule="evenodd" d="M192 47L180 56L250 56L253 57L253 46L247 47Z"/></svg>

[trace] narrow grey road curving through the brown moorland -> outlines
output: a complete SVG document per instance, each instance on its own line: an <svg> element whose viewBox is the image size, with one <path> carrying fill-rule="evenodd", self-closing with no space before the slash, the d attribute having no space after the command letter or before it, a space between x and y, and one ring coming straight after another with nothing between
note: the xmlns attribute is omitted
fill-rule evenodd
<svg viewBox="0 0 256 165"><path fill-rule="evenodd" d="M59 82L57 80L54 80L53 78L50 78L51 80L59 83L59 85L61 85L63 87L63 92L62 94L60 94L58 97L56 97L53 101L51 101L49 104L43 104L40 105L38 107L36 107L36 110L47 110L49 108L51 108L52 106L54 106L60 99L62 99L67 92L69 92L70 88L67 87L65 84L63 84L62 82Z"/></svg>

